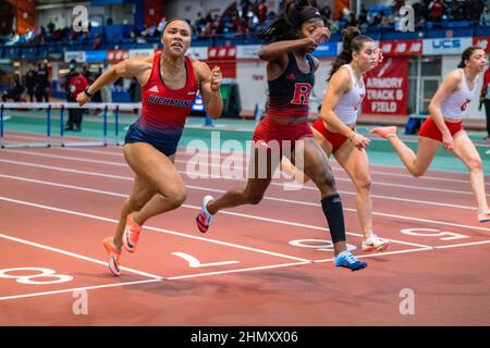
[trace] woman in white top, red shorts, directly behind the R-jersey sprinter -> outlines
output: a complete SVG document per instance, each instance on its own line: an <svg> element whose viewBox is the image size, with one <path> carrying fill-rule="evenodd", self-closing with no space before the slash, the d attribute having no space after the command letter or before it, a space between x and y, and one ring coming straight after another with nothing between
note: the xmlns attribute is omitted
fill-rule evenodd
<svg viewBox="0 0 490 348"><path fill-rule="evenodd" d="M323 96L320 117L313 125L314 137L323 151L333 154L356 187L356 209L363 231L363 251L382 251L389 243L380 239L372 227L371 178L366 148L369 139L356 133L355 126L363 99L366 96L363 74L381 60L375 41L356 27L342 30L343 48L330 72L329 86ZM282 160L282 169L294 172L295 179L309 178L291 170Z"/></svg>

